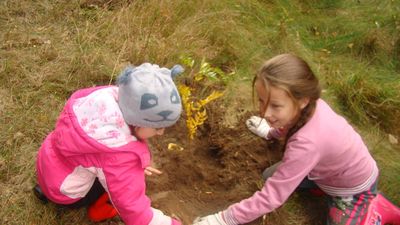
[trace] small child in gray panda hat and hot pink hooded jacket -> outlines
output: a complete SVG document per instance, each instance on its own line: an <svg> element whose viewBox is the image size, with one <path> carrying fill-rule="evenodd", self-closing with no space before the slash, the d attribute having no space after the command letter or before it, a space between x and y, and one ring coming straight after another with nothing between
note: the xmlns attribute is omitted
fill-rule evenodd
<svg viewBox="0 0 400 225"><path fill-rule="evenodd" d="M117 86L75 92L37 156L36 194L72 208L89 205L89 218L119 214L129 225L177 225L146 196L148 138L162 135L181 114L172 70L144 63L128 67Z"/></svg>

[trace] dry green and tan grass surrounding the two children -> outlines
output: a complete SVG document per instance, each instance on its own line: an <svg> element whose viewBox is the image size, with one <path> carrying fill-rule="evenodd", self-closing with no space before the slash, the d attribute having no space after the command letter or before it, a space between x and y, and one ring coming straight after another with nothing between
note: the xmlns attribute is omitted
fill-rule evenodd
<svg viewBox="0 0 400 225"><path fill-rule="evenodd" d="M400 133L398 1L90 2L0 2L1 224L56 223L30 188L37 148L73 90L110 83L127 63L171 66L181 55L237 71L234 82L275 54L304 57L377 159L380 189L400 204L400 148L387 138Z"/></svg>

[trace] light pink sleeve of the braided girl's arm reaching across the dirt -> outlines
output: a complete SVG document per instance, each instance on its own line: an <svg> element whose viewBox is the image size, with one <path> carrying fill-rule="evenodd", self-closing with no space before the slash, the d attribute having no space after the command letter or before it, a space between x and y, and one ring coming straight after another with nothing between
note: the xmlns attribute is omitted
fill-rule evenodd
<svg viewBox="0 0 400 225"><path fill-rule="evenodd" d="M307 140L291 140L282 163L253 196L231 205L224 215L230 224L245 224L280 207L318 163L319 154Z"/></svg>

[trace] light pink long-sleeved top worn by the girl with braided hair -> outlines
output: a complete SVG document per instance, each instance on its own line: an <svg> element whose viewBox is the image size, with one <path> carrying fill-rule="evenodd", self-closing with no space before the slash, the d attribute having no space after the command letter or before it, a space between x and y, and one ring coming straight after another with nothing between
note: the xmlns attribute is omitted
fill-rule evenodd
<svg viewBox="0 0 400 225"><path fill-rule="evenodd" d="M360 135L322 99L312 118L288 140L282 163L264 187L224 211L227 224L244 224L280 207L308 177L332 196L368 190L378 168Z"/></svg>

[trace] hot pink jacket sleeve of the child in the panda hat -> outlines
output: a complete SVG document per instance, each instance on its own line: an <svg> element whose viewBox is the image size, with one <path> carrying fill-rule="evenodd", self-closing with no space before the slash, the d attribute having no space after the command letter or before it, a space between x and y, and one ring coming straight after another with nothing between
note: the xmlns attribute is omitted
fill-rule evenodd
<svg viewBox="0 0 400 225"><path fill-rule="evenodd" d="M143 157L132 152L104 156L103 173L111 201L127 225L148 225L153 217L146 196ZM150 155L148 155L150 157Z"/></svg>

